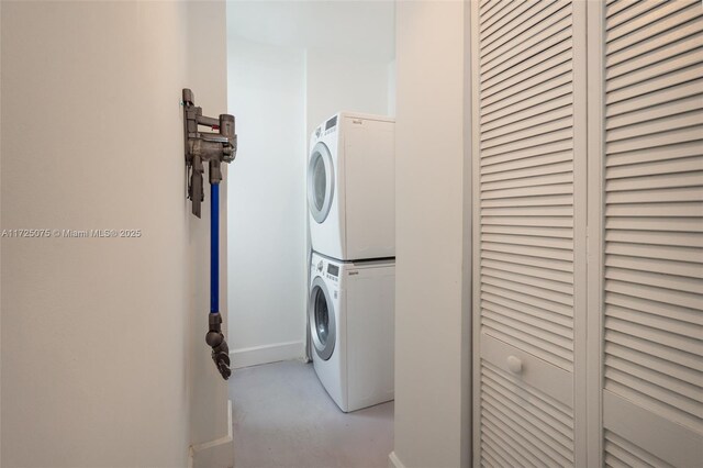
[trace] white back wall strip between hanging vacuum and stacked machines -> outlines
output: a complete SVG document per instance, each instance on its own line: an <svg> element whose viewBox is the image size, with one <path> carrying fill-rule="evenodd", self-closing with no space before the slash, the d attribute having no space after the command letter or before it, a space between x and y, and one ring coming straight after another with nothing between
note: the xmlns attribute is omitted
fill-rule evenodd
<svg viewBox="0 0 703 468"><path fill-rule="evenodd" d="M304 54L228 41L238 166L230 190L230 336L236 366L302 357Z"/></svg>

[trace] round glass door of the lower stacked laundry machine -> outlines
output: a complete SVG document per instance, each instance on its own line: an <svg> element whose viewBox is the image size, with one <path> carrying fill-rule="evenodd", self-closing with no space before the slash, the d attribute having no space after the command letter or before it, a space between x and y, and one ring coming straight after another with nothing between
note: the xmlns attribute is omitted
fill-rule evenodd
<svg viewBox="0 0 703 468"><path fill-rule="evenodd" d="M310 333L315 352L321 359L327 360L334 352L337 341L336 312L330 292L321 277L312 281L310 290Z"/></svg>

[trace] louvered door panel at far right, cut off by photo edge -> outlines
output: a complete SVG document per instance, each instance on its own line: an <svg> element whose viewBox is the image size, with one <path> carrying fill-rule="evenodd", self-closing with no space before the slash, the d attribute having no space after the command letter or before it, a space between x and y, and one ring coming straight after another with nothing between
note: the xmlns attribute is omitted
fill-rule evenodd
<svg viewBox="0 0 703 468"><path fill-rule="evenodd" d="M703 5L601 8L603 461L700 467Z"/></svg>

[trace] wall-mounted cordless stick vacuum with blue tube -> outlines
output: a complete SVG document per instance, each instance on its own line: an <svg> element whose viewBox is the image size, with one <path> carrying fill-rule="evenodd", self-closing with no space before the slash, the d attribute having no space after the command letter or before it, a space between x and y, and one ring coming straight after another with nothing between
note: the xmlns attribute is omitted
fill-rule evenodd
<svg viewBox="0 0 703 468"><path fill-rule="evenodd" d="M192 201L192 213L198 218L204 200L203 163L207 161L210 166L210 314L205 342L212 348L215 367L226 380L232 370L230 348L222 333L220 315L220 181L222 163L232 163L236 156L237 135L234 133L233 115L221 114L220 119L203 116L202 109L193 104L194 98L190 89L183 89L182 98L188 198ZM200 132L199 125L219 132Z"/></svg>

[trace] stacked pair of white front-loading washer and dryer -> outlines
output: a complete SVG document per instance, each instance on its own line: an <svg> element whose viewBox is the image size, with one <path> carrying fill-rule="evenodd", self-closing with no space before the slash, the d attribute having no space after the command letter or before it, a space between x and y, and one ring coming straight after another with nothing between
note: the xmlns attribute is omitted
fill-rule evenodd
<svg viewBox="0 0 703 468"><path fill-rule="evenodd" d="M312 134L313 365L344 412L393 399L394 122L341 112Z"/></svg>

